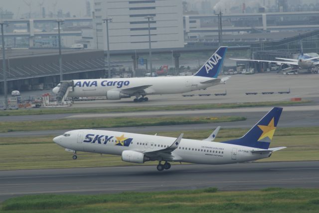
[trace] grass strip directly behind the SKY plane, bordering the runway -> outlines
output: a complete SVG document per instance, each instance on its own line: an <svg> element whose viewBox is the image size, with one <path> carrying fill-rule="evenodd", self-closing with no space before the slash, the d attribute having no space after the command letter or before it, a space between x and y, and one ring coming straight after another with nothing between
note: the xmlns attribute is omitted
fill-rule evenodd
<svg viewBox="0 0 319 213"><path fill-rule="evenodd" d="M265 161L319 160L319 127L278 128L271 147L287 146L274 152ZM248 129L221 129L216 141L242 136ZM184 131L184 138L203 139L212 130ZM146 132L155 134L155 132ZM180 132L159 132L158 135L177 137ZM54 136L0 138L0 170L45 169L136 165L121 160L121 156L78 152L78 159L72 160L72 153L52 142ZM23 151L21 151L23 150ZM146 162L155 165L157 162Z"/></svg>

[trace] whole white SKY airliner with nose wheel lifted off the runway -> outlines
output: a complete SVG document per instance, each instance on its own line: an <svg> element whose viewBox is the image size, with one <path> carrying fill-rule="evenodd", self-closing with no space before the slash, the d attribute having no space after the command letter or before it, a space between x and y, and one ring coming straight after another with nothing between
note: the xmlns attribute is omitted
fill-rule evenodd
<svg viewBox="0 0 319 213"><path fill-rule="evenodd" d="M234 140L212 142L219 127L204 140L183 139L117 131L78 129L65 132L53 141L76 151L121 155L131 163L159 161L157 169L170 168L169 162L196 164L231 164L268 158L286 147L269 148L283 108L274 107L244 136ZM163 164L161 162L164 162Z"/></svg>

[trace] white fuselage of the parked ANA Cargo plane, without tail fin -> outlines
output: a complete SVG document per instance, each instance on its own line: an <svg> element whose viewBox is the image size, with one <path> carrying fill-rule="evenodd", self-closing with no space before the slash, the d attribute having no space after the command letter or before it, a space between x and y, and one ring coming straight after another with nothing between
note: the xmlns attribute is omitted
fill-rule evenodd
<svg viewBox="0 0 319 213"><path fill-rule="evenodd" d="M201 82L213 78L200 76L174 76L153 78L121 78L121 79L86 79L73 80L74 90L69 97L102 97L110 90L125 90L128 88L150 85L145 89L145 95L162 95L186 93L200 89L206 89L216 84ZM224 82L221 82L224 83Z"/></svg>

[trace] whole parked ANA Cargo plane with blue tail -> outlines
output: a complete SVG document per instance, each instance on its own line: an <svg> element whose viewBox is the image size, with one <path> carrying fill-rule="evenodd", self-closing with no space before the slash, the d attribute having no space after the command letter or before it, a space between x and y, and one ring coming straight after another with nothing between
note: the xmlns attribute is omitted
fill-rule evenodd
<svg viewBox="0 0 319 213"><path fill-rule="evenodd" d="M147 95L186 93L225 84L230 77L217 78L227 47L218 50L193 76L156 78L85 79L61 82L53 89L57 101L63 97L105 97L120 100L136 97L134 102L148 101Z"/></svg>

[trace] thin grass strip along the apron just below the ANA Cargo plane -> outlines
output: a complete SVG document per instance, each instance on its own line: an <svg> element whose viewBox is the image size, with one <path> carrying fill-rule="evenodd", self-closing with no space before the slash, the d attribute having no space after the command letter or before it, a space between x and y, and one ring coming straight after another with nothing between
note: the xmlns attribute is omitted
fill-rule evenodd
<svg viewBox="0 0 319 213"><path fill-rule="evenodd" d="M197 104L197 105L170 105L170 106L120 106L120 107L83 107L83 108L42 108L0 110L0 116L6 115L35 115L35 114L61 114L61 113L95 113L95 112L127 112L127 111L156 111L156 110L187 110L187 109L213 109L213 108L239 108L254 106L290 106L310 103L300 102L252 102L235 104Z"/></svg>

